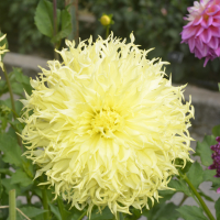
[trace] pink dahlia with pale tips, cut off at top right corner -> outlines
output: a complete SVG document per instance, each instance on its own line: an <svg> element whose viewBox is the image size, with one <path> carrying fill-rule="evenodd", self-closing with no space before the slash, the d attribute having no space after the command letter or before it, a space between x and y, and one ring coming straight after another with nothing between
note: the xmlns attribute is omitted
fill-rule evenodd
<svg viewBox="0 0 220 220"><path fill-rule="evenodd" d="M220 56L220 0L195 1L187 10L189 14L184 19L189 22L180 33L182 43L187 43L199 59L206 57L206 66Z"/></svg>

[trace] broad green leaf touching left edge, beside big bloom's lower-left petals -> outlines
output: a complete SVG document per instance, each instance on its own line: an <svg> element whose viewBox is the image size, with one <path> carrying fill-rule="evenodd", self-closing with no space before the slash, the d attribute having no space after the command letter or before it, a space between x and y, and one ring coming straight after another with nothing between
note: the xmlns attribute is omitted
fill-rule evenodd
<svg viewBox="0 0 220 220"><path fill-rule="evenodd" d="M22 152L14 138L7 133L0 134L0 150L4 153L3 162L22 166Z"/></svg>

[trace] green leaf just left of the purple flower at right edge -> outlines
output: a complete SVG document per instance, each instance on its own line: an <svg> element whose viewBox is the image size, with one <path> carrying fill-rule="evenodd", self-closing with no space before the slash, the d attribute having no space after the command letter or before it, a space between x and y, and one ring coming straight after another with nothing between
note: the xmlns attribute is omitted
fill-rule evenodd
<svg viewBox="0 0 220 220"><path fill-rule="evenodd" d="M210 146L215 144L217 144L217 141L213 135L206 135L201 143L197 142L195 155L200 156L202 165L209 166L212 164L212 158L211 158L212 151Z"/></svg>

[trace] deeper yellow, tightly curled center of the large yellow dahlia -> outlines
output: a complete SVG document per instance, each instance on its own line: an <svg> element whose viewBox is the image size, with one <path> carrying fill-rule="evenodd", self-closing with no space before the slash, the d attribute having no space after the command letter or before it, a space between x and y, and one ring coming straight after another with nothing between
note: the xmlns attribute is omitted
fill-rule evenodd
<svg viewBox="0 0 220 220"><path fill-rule="evenodd" d="M113 132L122 125L122 117L110 108L98 111L91 120L92 131L101 133L102 136L111 138Z"/></svg>

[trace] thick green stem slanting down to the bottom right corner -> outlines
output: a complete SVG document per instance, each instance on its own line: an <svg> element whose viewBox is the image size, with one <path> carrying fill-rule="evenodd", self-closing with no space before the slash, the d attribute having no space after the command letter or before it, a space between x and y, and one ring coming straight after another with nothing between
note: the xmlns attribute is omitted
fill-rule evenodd
<svg viewBox="0 0 220 220"><path fill-rule="evenodd" d="M180 176L188 184L188 186L190 187L191 191L194 193L194 195L199 200L199 204L201 205L201 208L204 209L204 211L206 212L206 215L208 216L208 218L210 220L215 220L215 218L213 218L212 213L210 212L209 208L207 207L207 205L205 204L205 201L202 200L201 196L196 190L196 188L194 187L194 185L191 184L191 182L188 179L188 177L186 175L180 175Z"/></svg>

